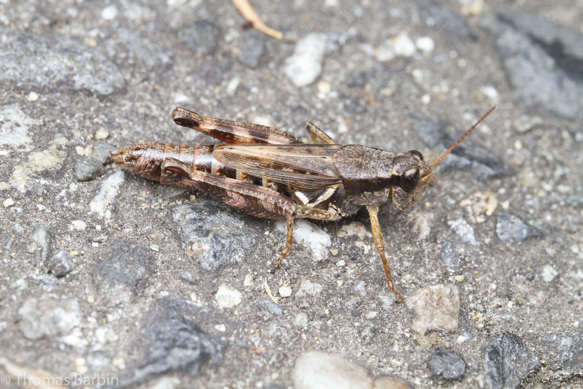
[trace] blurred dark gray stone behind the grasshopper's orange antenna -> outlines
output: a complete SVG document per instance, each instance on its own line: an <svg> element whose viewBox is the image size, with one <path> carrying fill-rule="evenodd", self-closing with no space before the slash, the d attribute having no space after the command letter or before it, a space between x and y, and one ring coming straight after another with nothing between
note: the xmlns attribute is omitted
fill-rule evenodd
<svg viewBox="0 0 583 389"><path fill-rule="evenodd" d="M413 126L421 140L437 153L444 152L458 140L466 130L456 131L452 136L447 133L449 123L420 118L413 115ZM507 176L510 169L498 158L496 153L465 139L439 164L441 169L470 170L478 180Z"/></svg>

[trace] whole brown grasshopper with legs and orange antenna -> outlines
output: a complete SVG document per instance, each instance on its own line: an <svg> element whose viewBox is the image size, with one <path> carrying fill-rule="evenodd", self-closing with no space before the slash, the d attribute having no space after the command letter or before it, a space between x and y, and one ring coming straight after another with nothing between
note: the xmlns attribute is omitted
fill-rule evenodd
<svg viewBox="0 0 583 389"><path fill-rule="evenodd" d="M339 145L312 122L305 128L313 144L263 125L202 117L176 107L172 120L220 139L216 145L173 145L149 142L118 148L110 157L123 169L162 184L199 188L250 215L287 218L286 247L275 264L289 253L293 220L338 220L366 206L374 244L381 256L389 290L402 302L385 257L378 223L378 206L391 198L404 211L423 196L436 166L489 115L428 164L417 150L393 153L361 145ZM322 142L322 143L319 143Z"/></svg>

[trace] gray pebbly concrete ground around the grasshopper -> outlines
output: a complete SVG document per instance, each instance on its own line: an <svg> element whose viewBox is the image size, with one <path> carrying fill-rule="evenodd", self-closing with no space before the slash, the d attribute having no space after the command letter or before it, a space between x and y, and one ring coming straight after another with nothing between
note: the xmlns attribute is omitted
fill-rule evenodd
<svg viewBox="0 0 583 389"><path fill-rule="evenodd" d="M583 4L252 3L297 43L228 1L0 0L2 384L583 387ZM274 270L281 222L107 160L213 143L177 105L433 160L493 104L381 208L403 304L366 212Z"/></svg>

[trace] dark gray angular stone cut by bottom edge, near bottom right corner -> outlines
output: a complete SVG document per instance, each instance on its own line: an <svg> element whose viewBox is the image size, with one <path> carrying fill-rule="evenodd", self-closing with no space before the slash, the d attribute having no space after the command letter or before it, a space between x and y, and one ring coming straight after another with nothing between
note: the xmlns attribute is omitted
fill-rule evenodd
<svg viewBox="0 0 583 389"><path fill-rule="evenodd" d="M482 363L490 389L514 389L529 373L540 367L536 354L522 338L504 331L493 335L482 347Z"/></svg>

